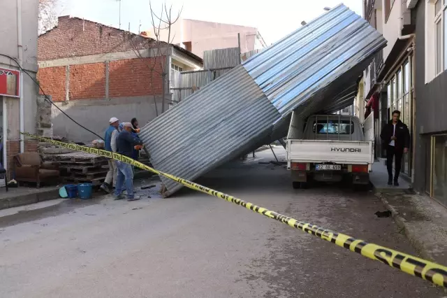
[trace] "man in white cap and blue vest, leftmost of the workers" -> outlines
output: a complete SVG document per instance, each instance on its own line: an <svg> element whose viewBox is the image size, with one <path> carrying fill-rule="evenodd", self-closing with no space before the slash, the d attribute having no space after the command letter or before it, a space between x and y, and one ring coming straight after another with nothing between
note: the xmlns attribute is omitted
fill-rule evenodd
<svg viewBox="0 0 447 298"><path fill-rule="evenodd" d="M116 117L112 117L109 120L109 127L105 130L104 136L104 147L105 150L110 152L117 152L117 136L118 132L119 120ZM109 159L109 171L107 172L107 176L105 176L104 183L101 185L101 190L104 190L107 193L110 193L110 188L115 187L117 181L117 164L115 160Z"/></svg>

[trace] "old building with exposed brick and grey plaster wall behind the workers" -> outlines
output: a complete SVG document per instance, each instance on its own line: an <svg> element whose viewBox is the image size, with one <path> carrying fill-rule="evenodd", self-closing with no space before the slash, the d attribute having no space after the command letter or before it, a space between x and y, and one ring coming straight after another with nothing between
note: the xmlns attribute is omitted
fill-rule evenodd
<svg viewBox="0 0 447 298"><path fill-rule="evenodd" d="M145 125L167 111L175 71L200 69L203 60L175 45L64 16L38 37L38 65L45 93L73 119L88 119L87 128L102 135L111 117L128 122L135 117ZM52 122L58 136L82 142L96 138L57 108Z"/></svg>

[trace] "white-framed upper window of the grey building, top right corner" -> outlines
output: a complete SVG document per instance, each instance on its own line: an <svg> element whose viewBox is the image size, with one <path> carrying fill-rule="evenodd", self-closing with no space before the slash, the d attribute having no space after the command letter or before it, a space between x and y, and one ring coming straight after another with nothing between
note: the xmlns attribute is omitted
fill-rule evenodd
<svg viewBox="0 0 447 298"><path fill-rule="evenodd" d="M447 69L447 1L426 0L425 83Z"/></svg>

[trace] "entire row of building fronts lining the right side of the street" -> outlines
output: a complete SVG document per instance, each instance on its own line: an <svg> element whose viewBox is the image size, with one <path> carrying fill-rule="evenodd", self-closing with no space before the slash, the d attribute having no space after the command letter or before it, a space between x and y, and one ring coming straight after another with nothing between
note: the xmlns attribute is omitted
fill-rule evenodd
<svg viewBox="0 0 447 298"><path fill-rule="evenodd" d="M363 76L367 106L378 110L376 134L402 112L411 133L403 171L416 191L447 206L447 1L366 0L364 8L388 41Z"/></svg>

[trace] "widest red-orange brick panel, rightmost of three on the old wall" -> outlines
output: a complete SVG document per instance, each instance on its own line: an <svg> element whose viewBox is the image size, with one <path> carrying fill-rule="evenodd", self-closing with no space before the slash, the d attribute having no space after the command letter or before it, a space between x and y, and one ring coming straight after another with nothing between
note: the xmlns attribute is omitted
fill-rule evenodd
<svg viewBox="0 0 447 298"><path fill-rule="evenodd" d="M109 72L110 97L138 97L162 92L159 58L110 62Z"/></svg>

